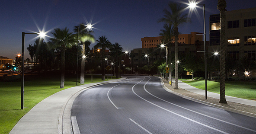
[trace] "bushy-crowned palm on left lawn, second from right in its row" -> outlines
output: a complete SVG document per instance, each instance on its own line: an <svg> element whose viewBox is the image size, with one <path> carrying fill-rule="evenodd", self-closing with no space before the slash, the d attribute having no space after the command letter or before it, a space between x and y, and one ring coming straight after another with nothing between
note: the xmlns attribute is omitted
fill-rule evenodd
<svg viewBox="0 0 256 134"><path fill-rule="evenodd" d="M109 40L105 36L100 36L99 40L96 40L98 43L94 46L94 48L101 48L102 50L102 58L104 58L105 55L105 50L106 48L111 48L112 44L110 43ZM104 64L104 63L102 63ZM105 68L102 67L102 76L101 80L105 80Z"/></svg>

